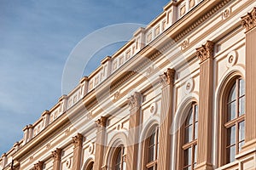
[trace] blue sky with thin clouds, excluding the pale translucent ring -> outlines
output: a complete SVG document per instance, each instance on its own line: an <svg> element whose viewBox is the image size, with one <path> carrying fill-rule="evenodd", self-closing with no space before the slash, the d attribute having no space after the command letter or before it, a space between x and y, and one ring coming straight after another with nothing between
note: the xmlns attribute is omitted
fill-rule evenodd
<svg viewBox="0 0 256 170"><path fill-rule="evenodd" d="M62 71L80 40L113 24L147 25L168 2L1 0L0 154L22 138L23 127L38 120L60 98ZM97 53L84 75L120 44Z"/></svg>

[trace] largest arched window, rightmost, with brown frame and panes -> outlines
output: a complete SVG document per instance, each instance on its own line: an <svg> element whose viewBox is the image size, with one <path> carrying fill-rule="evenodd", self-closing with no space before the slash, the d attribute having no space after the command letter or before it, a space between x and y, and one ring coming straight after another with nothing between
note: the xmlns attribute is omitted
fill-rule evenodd
<svg viewBox="0 0 256 170"><path fill-rule="evenodd" d="M224 128L226 133L226 162L235 161L245 140L245 82L237 78L232 84L226 99L227 114Z"/></svg>

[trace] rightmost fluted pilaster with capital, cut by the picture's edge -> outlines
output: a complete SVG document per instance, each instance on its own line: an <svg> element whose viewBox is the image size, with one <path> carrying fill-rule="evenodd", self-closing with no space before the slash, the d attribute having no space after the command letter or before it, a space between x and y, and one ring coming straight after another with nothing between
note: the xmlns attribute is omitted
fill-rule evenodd
<svg viewBox="0 0 256 170"><path fill-rule="evenodd" d="M246 28L246 128L245 146L256 146L256 7L251 13L241 18L241 25Z"/></svg>

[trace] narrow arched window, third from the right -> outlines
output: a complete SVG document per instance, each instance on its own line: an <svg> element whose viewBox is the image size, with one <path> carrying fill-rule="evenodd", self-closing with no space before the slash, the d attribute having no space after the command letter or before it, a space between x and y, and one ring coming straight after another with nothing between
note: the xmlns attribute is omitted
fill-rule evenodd
<svg viewBox="0 0 256 170"><path fill-rule="evenodd" d="M146 164L146 167L148 170L156 170L157 169L157 156L158 156L158 150L159 150L159 128L154 127L153 132L147 139L147 156L148 161Z"/></svg>

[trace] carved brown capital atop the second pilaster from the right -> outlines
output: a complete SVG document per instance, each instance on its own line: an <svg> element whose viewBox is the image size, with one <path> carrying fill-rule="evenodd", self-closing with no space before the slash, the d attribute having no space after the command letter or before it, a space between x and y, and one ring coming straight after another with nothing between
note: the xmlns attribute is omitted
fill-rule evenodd
<svg viewBox="0 0 256 170"><path fill-rule="evenodd" d="M205 61L206 59L213 58L213 49L214 49L214 42L207 41L205 45L202 45L201 48L196 48L196 55L201 62Z"/></svg>

